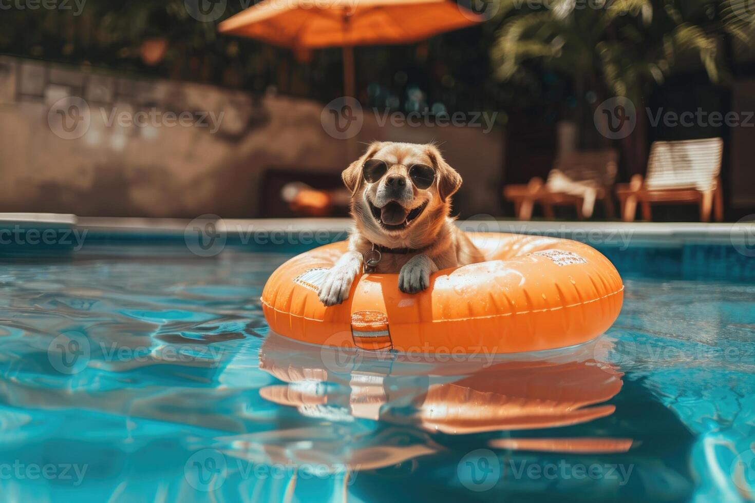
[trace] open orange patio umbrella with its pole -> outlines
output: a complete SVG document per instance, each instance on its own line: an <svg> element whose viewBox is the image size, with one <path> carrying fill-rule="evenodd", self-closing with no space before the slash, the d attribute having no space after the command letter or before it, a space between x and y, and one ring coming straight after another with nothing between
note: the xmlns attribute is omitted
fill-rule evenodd
<svg viewBox="0 0 755 503"><path fill-rule="evenodd" d="M263 0L218 30L288 48L341 47L353 97L355 45L408 44L482 20L450 0Z"/></svg>

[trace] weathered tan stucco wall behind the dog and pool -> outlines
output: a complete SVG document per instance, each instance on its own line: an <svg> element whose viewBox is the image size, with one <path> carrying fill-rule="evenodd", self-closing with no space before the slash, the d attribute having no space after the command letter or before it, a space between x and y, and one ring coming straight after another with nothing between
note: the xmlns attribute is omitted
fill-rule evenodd
<svg viewBox="0 0 755 503"><path fill-rule="evenodd" d="M66 116L72 103L77 112ZM500 212L501 130L381 125L365 111L356 137L337 140L322 125L322 109L309 100L0 57L0 211L266 216L256 199L268 167L338 173L360 142L400 140L442 143L465 179L458 199L465 216ZM166 112L196 113L170 126ZM122 114L146 125L120 121Z"/></svg>

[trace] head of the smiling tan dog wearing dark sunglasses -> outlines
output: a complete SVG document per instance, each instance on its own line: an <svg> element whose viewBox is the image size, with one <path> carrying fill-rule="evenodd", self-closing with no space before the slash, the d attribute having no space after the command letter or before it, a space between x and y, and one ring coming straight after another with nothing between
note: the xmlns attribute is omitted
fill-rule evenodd
<svg viewBox="0 0 755 503"><path fill-rule="evenodd" d="M435 146L414 143L372 143L342 176L359 230L389 247L424 246L461 186Z"/></svg>

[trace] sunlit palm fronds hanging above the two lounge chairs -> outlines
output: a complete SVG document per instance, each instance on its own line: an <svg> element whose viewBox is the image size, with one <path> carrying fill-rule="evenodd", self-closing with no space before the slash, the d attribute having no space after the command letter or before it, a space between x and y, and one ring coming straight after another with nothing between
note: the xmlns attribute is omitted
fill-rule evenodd
<svg viewBox="0 0 755 503"><path fill-rule="evenodd" d="M748 0L500 1L492 46L499 79L525 78L541 63L598 97L636 103L691 57L710 81L726 81L723 38L747 40L753 27Z"/></svg>

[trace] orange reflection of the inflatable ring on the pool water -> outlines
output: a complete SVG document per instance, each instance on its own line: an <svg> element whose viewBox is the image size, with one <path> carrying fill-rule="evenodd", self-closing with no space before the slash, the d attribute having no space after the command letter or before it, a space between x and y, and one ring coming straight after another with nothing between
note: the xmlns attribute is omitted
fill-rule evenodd
<svg viewBox="0 0 755 503"><path fill-rule="evenodd" d="M260 370L285 384L260 388L260 397L331 422L361 418L430 433L476 434L604 418L615 411L605 402L622 386L623 374L593 360L593 351L579 349L543 360L501 358L488 362L489 367L466 369L365 358L347 373L334 373L319 362L323 351L340 350L313 351L283 337L268 337L260 351ZM615 437L521 436L492 443L502 449L552 452L625 452L631 444L631 439Z"/></svg>

